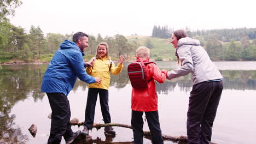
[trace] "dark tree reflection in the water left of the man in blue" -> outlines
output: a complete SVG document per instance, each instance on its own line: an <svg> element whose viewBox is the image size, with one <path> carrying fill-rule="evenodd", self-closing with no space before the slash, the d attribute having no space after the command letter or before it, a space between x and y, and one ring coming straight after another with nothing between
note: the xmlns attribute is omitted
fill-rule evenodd
<svg viewBox="0 0 256 144"><path fill-rule="evenodd" d="M4 65L0 70L0 143L26 143L27 135L15 126L15 115L9 116L9 113L18 101L25 100L28 95L34 101L43 99L41 71L45 68L44 65Z"/></svg>

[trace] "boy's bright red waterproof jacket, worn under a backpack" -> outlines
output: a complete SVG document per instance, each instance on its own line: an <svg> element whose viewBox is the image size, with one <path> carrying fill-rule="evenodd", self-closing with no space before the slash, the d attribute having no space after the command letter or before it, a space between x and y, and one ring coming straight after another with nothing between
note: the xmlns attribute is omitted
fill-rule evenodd
<svg viewBox="0 0 256 144"><path fill-rule="evenodd" d="M141 59L137 62L147 62ZM160 70L154 63L146 65L148 80L148 88L132 88L132 104L131 109L134 111L157 111L158 110L158 95L155 92L155 81L163 83L166 79L167 70Z"/></svg>

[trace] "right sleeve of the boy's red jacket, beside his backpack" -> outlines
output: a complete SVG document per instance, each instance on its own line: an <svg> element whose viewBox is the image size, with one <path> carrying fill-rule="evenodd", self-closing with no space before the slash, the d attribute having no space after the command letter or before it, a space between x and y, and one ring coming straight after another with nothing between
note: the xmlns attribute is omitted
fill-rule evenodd
<svg viewBox="0 0 256 144"><path fill-rule="evenodd" d="M167 70L160 70L156 64L152 64L151 73L153 74L154 80L158 81L159 83L165 82Z"/></svg>

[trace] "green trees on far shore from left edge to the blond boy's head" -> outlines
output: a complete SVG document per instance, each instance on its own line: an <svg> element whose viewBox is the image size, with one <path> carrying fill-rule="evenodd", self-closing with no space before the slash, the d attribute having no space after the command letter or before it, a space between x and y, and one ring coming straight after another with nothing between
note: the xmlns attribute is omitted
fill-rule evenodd
<svg viewBox="0 0 256 144"><path fill-rule="evenodd" d="M41 59L43 57L52 56L59 49L60 44L65 40L72 40L72 34L47 33L44 37L42 29L37 26L31 26L29 33L25 32L22 27L16 27L8 23L9 29L4 31L5 41L0 45L0 61L8 61L11 58L20 58L24 61ZM109 45L111 56L126 57L134 55L131 51L135 51L139 46L137 41L128 41L124 35L117 34L114 37L102 38L101 34L97 37L89 35L89 47L86 48L86 54L95 55L97 45L105 41ZM48 55L49 54L49 55Z"/></svg>

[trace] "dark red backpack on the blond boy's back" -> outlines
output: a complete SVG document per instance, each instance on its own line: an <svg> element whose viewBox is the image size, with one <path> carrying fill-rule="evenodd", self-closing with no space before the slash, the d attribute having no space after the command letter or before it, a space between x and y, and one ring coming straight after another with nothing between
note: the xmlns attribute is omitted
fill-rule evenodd
<svg viewBox="0 0 256 144"><path fill-rule="evenodd" d="M154 62L133 62L128 65L128 76L133 88L147 88L148 82L153 79L147 80L146 65ZM155 64L155 63L154 63Z"/></svg>

